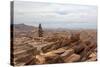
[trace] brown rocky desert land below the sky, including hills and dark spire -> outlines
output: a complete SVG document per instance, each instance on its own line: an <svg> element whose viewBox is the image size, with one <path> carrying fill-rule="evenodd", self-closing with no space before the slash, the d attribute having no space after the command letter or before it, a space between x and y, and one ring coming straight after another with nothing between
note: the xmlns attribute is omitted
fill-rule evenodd
<svg viewBox="0 0 100 67"><path fill-rule="evenodd" d="M14 24L13 64L37 65L97 60L96 29L44 29Z"/></svg>

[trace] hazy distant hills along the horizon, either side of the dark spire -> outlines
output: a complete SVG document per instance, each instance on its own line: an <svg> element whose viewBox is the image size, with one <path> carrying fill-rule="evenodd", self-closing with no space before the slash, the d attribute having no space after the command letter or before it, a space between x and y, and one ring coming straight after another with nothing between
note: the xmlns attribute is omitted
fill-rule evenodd
<svg viewBox="0 0 100 67"><path fill-rule="evenodd" d="M30 26L30 25L26 25L26 24L14 24L14 30L17 32L35 32L37 31L38 27L35 26ZM94 31L95 29L65 29L65 28L43 28L43 31L46 32L64 32L64 31L76 31L76 30L89 30L89 31Z"/></svg>

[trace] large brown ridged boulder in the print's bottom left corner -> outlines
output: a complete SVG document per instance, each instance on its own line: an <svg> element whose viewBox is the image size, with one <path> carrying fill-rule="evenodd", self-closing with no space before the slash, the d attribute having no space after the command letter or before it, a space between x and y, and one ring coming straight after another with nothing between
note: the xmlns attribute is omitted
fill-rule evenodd
<svg viewBox="0 0 100 67"><path fill-rule="evenodd" d="M14 65L25 65L37 54L37 49L30 44L20 44L14 48Z"/></svg>

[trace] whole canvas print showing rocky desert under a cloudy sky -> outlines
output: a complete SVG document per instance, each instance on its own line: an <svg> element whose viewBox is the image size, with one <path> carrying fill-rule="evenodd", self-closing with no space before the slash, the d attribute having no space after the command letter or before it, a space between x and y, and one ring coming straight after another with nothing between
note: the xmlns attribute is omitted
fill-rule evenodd
<svg viewBox="0 0 100 67"><path fill-rule="evenodd" d="M14 1L11 65L97 61L94 5Z"/></svg>

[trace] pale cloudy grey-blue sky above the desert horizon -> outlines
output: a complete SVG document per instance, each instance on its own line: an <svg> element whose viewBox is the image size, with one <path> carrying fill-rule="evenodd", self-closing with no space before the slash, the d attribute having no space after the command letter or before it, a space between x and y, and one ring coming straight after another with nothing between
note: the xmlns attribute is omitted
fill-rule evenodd
<svg viewBox="0 0 100 67"><path fill-rule="evenodd" d="M14 23L44 28L97 28L97 7L43 2L14 2Z"/></svg>

